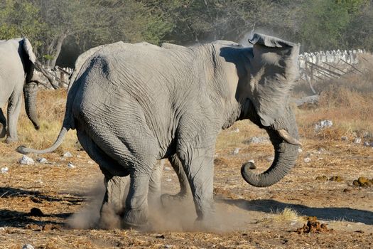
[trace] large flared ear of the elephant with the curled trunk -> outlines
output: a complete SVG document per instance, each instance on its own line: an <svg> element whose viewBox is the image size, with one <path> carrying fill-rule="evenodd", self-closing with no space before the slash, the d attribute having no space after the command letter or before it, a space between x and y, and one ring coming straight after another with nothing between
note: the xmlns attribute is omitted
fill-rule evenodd
<svg viewBox="0 0 373 249"><path fill-rule="evenodd" d="M252 102L261 124L270 126L281 117L298 79L299 44L255 33L250 58Z"/></svg>

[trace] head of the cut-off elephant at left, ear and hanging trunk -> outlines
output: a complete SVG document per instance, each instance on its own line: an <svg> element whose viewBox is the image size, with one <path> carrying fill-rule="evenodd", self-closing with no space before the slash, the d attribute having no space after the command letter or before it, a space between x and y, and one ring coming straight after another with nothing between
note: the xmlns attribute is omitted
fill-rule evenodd
<svg viewBox="0 0 373 249"><path fill-rule="evenodd" d="M21 41L19 41L19 45L18 53L21 56L23 70L26 76L26 83L23 86L26 114L31 122L33 122L35 129L39 129L40 124L36 112L38 85L36 84L36 75L34 75L36 56L33 53L33 48L27 38L23 38Z"/></svg>

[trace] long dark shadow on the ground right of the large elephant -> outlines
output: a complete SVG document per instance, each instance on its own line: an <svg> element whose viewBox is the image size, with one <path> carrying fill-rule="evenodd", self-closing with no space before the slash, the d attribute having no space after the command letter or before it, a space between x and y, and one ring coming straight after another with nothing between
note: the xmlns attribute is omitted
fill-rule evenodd
<svg viewBox="0 0 373 249"><path fill-rule="evenodd" d="M302 216L316 216L320 220L361 222L366 225L373 225L373 212L354 208L313 208L299 204L283 203L275 200L246 201L220 199L219 201L222 201L229 205L237 206L247 211L261 211L264 213L273 213L274 211L282 211L284 208L292 208L293 210L300 213Z"/></svg>

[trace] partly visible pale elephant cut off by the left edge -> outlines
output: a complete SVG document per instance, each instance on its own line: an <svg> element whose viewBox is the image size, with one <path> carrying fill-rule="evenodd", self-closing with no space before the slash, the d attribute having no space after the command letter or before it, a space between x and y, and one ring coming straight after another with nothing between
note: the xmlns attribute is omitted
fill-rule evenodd
<svg viewBox="0 0 373 249"><path fill-rule="evenodd" d="M17 122L22 105L22 92L25 97L26 114L35 129L40 125L36 114L38 87L33 82L36 56L27 38L0 41L0 107L8 103L8 125L0 109L0 137L6 142L16 142Z"/></svg>

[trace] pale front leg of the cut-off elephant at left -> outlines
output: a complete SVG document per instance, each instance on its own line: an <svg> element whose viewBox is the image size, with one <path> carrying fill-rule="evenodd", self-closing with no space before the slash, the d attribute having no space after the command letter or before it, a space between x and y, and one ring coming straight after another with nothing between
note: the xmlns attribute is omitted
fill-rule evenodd
<svg viewBox="0 0 373 249"><path fill-rule="evenodd" d="M6 142L16 142L18 141L17 136L17 123L18 123L18 116L19 112L21 112L21 105L22 105L22 95L21 92L17 93L16 91L13 92L9 99L8 104L8 131Z"/></svg>

